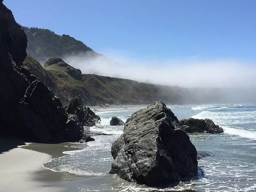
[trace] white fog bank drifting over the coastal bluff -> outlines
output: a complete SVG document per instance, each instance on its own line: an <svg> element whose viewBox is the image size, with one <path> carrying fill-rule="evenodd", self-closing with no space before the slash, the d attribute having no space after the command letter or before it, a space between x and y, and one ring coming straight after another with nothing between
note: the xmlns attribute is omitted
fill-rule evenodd
<svg viewBox="0 0 256 192"><path fill-rule="evenodd" d="M256 67L236 60L139 60L78 54L63 57L83 74L187 88L256 88Z"/></svg>

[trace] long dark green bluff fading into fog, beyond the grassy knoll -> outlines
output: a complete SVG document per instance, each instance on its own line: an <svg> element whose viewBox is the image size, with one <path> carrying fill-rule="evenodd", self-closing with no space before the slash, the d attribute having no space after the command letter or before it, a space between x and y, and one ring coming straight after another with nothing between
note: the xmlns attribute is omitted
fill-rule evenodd
<svg viewBox="0 0 256 192"><path fill-rule="evenodd" d="M187 89L139 83L129 79L83 74L84 84L98 103L149 104L157 100L181 104L189 94Z"/></svg>

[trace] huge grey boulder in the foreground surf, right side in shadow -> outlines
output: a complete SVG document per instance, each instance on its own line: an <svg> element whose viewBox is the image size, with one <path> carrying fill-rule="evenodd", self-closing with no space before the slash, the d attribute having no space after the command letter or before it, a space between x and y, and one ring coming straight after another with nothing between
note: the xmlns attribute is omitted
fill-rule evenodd
<svg viewBox="0 0 256 192"><path fill-rule="evenodd" d="M132 114L111 153L109 173L130 182L164 186L197 175L196 148L160 101Z"/></svg>

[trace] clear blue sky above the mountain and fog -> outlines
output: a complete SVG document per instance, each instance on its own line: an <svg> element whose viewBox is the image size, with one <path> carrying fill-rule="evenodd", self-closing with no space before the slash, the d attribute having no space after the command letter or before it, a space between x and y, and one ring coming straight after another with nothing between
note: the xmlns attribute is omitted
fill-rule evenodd
<svg viewBox="0 0 256 192"><path fill-rule="evenodd" d="M96 52L170 59L256 59L255 0L4 0L24 26Z"/></svg>

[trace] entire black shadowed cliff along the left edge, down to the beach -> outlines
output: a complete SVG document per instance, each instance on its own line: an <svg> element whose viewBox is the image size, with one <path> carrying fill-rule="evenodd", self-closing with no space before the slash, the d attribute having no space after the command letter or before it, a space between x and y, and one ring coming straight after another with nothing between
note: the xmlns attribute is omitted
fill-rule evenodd
<svg viewBox="0 0 256 192"><path fill-rule="evenodd" d="M82 139L84 130L78 124L67 126L60 99L23 65L26 47L24 31L1 1L0 135L45 143Z"/></svg>

